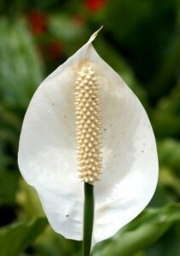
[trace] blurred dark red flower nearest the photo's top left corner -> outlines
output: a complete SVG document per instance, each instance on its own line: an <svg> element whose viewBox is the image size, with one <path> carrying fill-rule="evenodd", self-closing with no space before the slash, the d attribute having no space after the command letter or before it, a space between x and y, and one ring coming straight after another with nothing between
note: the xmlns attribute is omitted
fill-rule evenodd
<svg viewBox="0 0 180 256"><path fill-rule="evenodd" d="M32 10L28 15L31 23L32 33L35 35L41 35L46 30L45 15L38 10Z"/></svg>

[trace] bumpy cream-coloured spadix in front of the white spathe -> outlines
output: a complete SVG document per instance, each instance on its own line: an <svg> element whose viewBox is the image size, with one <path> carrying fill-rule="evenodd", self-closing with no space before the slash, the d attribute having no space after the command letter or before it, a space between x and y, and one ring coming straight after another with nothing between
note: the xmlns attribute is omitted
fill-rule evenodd
<svg viewBox="0 0 180 256"><path fill-rule="evenodd" d="M78 176L94 184L102 171L102 127L98 81L91 66L82 67L75 84Z"/></svg>

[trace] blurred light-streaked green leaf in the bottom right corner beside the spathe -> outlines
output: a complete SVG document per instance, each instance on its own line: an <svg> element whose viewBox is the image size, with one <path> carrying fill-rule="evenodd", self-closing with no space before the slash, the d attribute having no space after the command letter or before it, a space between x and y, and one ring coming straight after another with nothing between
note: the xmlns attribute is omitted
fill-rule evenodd
<svg viewBox="0 0 180 256"><path fill-rule="evenodd" d="M180 220L180 205L148 209L120 230L110 241L95 248L93 256L131 256L148 247Z"/></svg>

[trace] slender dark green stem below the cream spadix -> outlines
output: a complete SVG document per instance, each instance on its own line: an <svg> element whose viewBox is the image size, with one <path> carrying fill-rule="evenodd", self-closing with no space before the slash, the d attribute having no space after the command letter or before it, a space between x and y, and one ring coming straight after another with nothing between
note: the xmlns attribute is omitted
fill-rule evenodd
<svg viewBox="0 0 180 256"><path fill-rule="evenodd" d="M90 256L94 219L94 186L84 183L84 235L83 255Z"/></svg>

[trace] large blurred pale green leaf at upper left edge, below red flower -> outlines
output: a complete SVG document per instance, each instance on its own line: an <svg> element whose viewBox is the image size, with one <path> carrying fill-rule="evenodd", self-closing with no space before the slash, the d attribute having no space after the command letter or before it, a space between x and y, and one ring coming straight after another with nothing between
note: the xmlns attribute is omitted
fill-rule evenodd
<svg viewBox="0 0 180 256"><path fill-rule="evenodd" d="M26 107L43 69L32 36L19 20L0 19L0 93L3 100Z"/></svg>

